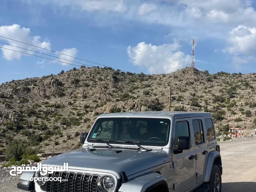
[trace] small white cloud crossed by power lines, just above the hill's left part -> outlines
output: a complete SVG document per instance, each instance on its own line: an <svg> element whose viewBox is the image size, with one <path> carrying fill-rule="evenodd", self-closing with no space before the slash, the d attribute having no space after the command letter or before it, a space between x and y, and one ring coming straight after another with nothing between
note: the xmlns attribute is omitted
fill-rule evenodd
<svg viewBox="0 0 256 192"><path fill-rule="evenodd" d="M78 50L76 48L71 48L71 49L63 49L62 51L58 51L58 52L59 53L55 53L59 57L59 59L57 59L57 60L61 61L61 62L65 62L65 63L56 62L56 61L53 61L53 62L54 63L60 63L63 66L67 66L68 64L66 64L66 63L72 63L70 61L74 61L73 57L76 57L76 54L77 54ZM67 61L67 60L70 60L70 61Z"/></svg>

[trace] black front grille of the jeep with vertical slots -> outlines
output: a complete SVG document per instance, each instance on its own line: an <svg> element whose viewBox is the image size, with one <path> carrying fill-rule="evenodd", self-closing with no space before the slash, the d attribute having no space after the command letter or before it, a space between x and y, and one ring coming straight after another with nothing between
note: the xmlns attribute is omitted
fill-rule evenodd
<svg viewBox="0 0 256 192"><path fill-rule="evenodd" d="M74 172L53 172L48 178L61 177L66 181L48 181L42 190L46 192L98 192L98 175L82 174Z"/></svg>

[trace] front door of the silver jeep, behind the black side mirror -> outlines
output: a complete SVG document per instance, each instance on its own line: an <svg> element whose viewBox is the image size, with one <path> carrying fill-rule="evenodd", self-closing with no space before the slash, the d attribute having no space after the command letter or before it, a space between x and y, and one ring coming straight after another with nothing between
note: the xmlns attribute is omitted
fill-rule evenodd
<svg viewBox="0 0 256 192"><path fill-rule="evenodd" d="M191 140L191 148L183 150L182 153L175 154L178 149L178 136L189 136L191 138L191 123L189 118L175 120L174 144L173 144L173 162L175 170L174 190L185 192L192 188L196 178L196 162L194 146Z"/></svg>

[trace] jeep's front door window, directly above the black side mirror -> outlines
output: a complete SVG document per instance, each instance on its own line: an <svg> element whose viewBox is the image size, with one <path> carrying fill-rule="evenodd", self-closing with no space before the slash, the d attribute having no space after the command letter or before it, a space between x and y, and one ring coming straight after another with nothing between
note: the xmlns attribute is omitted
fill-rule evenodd
<svg viewBox="0 0 256 192"><path fill-rule="evenodd" d="M187 121L178 121L175 124L174 149L178 149L178 137L190 137L189 124Z"/></svg>

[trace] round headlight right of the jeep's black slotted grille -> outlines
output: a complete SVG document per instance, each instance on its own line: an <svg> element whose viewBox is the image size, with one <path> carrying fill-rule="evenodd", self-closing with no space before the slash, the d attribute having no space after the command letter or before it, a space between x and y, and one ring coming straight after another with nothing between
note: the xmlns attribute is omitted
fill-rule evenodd
<svg viewBox="0 0 256 192"><path fill-rule="evenodd" d="M112 192L115 188L115 180L112 176L105 175L98 180L98 189L100 192Z"/></svg>

